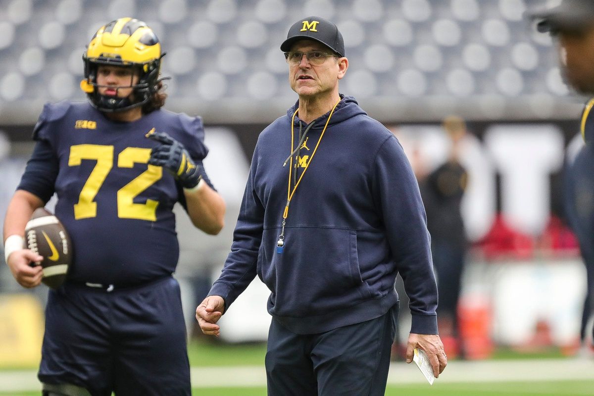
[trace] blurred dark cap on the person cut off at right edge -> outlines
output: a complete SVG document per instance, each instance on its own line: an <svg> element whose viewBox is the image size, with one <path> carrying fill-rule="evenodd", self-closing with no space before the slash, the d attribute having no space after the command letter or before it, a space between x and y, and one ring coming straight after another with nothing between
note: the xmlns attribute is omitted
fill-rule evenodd
<svg viewBox="0 0 594 396"><path fill-rule="evenodd" d="M594 24L592 0L563 0L557 7L532 12L538 31L581 30Z"/></svg>

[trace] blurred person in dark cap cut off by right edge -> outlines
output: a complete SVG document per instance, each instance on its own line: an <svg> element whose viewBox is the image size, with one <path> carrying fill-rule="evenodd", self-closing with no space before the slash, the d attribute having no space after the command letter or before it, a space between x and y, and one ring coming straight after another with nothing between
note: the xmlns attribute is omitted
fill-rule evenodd
<svg viewBox="0 0 594 396"><path fill-rule="evenodd" d="M541 32L549 32L558 44L565 81L578 93L594 95L594 2L563 0L557 7L532 13ZM587 102L580 128L584 147L566 172L566 211L580 243L586 265L587 293L580 338L582 353L592 356L587 345L587 324L594 309L594 99Z"/></svg>

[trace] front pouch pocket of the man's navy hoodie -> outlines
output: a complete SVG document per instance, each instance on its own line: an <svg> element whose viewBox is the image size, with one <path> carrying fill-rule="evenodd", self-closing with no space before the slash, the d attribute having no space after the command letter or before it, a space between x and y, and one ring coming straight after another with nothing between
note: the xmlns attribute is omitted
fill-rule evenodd
<svg viewBox="0 0 594 396"><path fill-rule="evenodd" d="M286 229L282 254L276 252L276 239L276 229L264 230L257 267L272 292L271 313L320 315L371 297L361 279L355 231Z"/></svg>

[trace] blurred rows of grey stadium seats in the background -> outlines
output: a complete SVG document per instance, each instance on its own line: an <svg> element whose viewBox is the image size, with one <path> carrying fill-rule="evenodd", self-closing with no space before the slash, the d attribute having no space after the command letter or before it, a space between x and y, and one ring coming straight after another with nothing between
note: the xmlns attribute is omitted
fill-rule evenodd
<svg viewBox="0 0 594 396"><path fill-rule="evenodd" d="M342 91L366 101L371 112L378 102L402 110L407 107L399 103L426 106L430 99L434 118L451 110L440 104L448 102L469 112L473 103L483 103L483 113L467 115L481 118L489 115L489 103L504 101L523 103L525 118L542 117L541 104L555 110L568 91L551 39L524 17L540 3L6 0L0 11L0 107L27 118L37 115L39 103L84 99L78 89L84 45L106 21L130 15L149 23L168 52L162 72L172 77L173 110L206 107L223 121L257 103L273 104L278 115L277 103L286 109L294 100L280 42L296 18L319 15L336 22L345 37L350 66ZM219 106L208 110L213 102ZM407 116L414 120L418 113ZM266 112L262 118L267 121Z"/></svg>

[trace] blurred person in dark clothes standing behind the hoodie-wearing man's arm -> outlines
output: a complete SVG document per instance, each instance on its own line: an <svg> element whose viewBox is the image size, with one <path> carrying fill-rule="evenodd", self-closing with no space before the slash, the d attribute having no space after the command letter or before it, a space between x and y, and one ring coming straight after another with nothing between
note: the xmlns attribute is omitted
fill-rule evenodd
<svg viewBox="0 0 594 396"><path fill-rule="evenodd" d="M437 313L441 340L448 356L456 357L463 352L457 306L467 248L461 205L468 173L460 163L460 142L466 135L466 123L459 116L451 115L444 119L442 127L451 142L448 158L419 180L419 184L440 296Z"/></svg>

